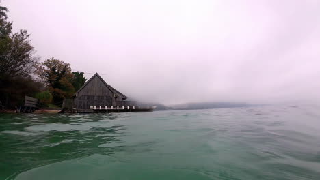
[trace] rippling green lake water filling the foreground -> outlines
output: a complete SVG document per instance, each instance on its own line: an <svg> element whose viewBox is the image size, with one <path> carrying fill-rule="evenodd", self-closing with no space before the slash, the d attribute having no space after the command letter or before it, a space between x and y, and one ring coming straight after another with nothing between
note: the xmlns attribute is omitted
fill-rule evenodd
<svg viewBox="0 0 320 180"><path fill-rule="evenodd" d="M320 179L320 108L2 114L0 179Z"/></svg>

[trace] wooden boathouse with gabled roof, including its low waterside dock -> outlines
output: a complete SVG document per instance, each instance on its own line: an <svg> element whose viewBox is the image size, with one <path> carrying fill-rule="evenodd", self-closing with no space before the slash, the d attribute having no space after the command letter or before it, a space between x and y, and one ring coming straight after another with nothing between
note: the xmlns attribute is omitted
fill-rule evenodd
<svg viewBox="0 0 320 180"><path fill-rule="evenodd" d="M126 95L108 85L96 73L75 93L65 99L62 108L67 112L137 112L152 111L155 107L137 106L135 101L126 101Z"/></svg>

